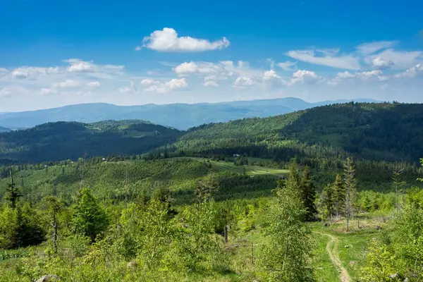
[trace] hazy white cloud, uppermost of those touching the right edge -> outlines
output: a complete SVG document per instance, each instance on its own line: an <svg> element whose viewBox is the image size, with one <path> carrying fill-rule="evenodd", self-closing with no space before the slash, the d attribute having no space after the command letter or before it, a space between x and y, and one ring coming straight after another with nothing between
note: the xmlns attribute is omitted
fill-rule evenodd
<svg viewBox="0 0 423 282"><path fill-rule="evenodd" d="M393 49L386 49L379 54L367 57L367 61L372 61L378 57L384 61L391 61L393 63L392 68L405 69L415 66L419 61L423 61L423 51L395 51Z"/></svg>

